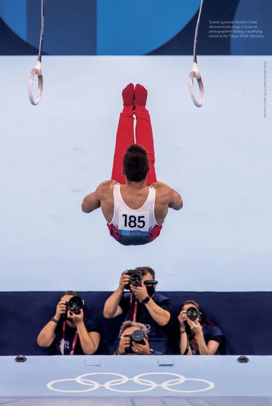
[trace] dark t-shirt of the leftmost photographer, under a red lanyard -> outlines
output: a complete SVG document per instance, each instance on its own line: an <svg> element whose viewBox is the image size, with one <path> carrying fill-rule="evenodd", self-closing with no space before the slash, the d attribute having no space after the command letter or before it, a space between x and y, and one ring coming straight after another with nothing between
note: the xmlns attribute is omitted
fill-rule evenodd
<svg viewBox="0 0 272 406"><path fill-rule="evenodd" d="M98 326L93 321L91 321L89 319L84 319L84 323L85 323L85 327L86 327L88 333L90 333L92 331L100 333ZM66 323L65 336L64 336L64 355L70 355L75 333L76 333L76 328L70 327L70 326L68 326L68 323ZM63 337L63 320L60 320L59 323L57 323L57 326L55 329L55 335L56 335L56 337L52 344L52 353L54 353L54 355L61 355L61 343L62 343L62 337ZM75 348L74 348L74 355L84 355L84 352L82 351L82 348L81 348L80 337L77 337Z"/></svg>

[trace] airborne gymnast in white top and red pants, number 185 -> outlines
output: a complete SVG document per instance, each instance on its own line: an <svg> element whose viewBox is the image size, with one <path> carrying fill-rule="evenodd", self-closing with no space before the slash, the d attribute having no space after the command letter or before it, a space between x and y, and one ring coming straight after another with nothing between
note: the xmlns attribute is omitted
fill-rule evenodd
<svg viewBox="0 0 272 406"><path fill-rule="evenodd" d="M183 202L179 193L156 178L147 90L130 83L122 96L111 180L85 197L82 210L91 213L101 207L110 235L124 246L136 246L157 238L168 208L180 210Z"/></svg>

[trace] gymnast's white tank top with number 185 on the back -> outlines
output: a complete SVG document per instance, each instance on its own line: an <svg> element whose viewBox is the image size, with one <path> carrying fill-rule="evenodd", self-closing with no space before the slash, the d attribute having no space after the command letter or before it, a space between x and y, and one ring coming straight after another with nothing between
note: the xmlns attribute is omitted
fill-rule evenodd
<svg viewBox="0 0 272 406"><path fill-rule="evenodd" d="M110 224L122 235L131 237L148 235L148 231L157 226L154 215L156 189L149 186L149 193L143 206L138 210L132 210L124 202L120 186L116 184L113 188L114 214Z"/></svg>

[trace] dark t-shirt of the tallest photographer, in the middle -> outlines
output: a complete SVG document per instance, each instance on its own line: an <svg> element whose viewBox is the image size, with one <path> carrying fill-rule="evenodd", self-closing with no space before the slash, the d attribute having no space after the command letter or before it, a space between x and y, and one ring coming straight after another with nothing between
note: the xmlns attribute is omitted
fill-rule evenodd
<svg viewBox="0 0 272 406"><path fill-rule="evenodd" d="M126 320L132 319L131 317L132 315L129 308L129 297L130 297L129 292L124 293L119 303L119 306L122 308ZM154 300L154 302L158 304L158 306L160 306L162 309L167 310L167 312L171 314L171 303L167 297L161 295L158 292L155 292L154 296L152 297L152 300ZM148 324L150 326L150 332L148 333L148 342L150 344L150 348L152 350L164 353L167 336L170 333L168 325L159 326L159 324L156 321L154 321L150 316L150 313L148 312L145 304L139 302L137 306L136 320L139 323Z"/></svg>

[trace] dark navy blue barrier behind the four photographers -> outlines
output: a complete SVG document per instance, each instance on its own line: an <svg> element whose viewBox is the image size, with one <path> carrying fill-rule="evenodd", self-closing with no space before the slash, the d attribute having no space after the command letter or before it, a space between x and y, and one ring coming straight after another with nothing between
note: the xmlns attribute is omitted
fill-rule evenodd
<svg viewBox="0 0 272 406"><path fill-rule="evenodd" d="M177 346L177 315L181 303L192 299L225 336L227 355L272 355L272 292L161 292L172 303L172 351ZM79 292L87 318L99 323L99 354L111 354L123 316L106 320L103 307L110 292ZM55 313L60 292L0 292L0 355L45 355L36 344L40 330Z"/></svg>

